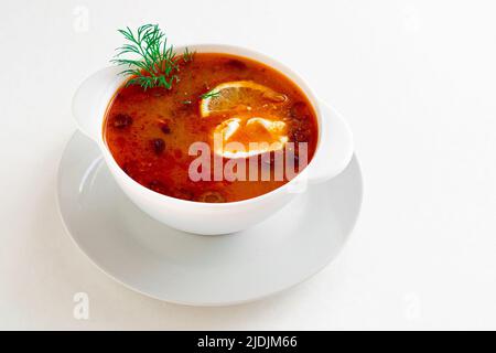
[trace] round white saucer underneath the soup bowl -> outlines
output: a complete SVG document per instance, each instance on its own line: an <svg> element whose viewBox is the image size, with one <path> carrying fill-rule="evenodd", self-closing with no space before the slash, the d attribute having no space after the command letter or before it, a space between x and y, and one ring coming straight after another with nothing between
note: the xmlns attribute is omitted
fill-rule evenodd
<svg viewBox="0 0 496 353"><path fill-rule="evenodd" d="M227 306L290 288L339 253L362 204L354 158L332 181L242 233L200 236L172 229L120 191L97 146L76 132L58 171L62 217L106 274L143 295L193 306Z"/></svg>

